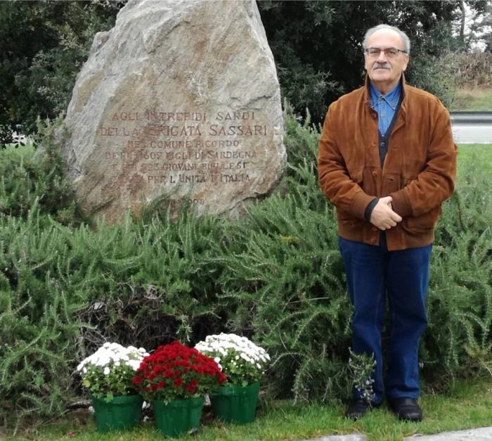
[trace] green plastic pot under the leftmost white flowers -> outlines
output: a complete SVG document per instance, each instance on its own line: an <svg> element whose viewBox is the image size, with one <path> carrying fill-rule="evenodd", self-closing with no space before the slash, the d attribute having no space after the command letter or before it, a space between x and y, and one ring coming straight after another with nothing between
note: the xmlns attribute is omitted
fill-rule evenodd
<svg viewBox="0 0 492 441"><path fill-rule="evenodd" d="M109 403L104 398L92 397L98 430L109 432L135 428L140 423L142 403L141 395L114 397Z"/></svg>

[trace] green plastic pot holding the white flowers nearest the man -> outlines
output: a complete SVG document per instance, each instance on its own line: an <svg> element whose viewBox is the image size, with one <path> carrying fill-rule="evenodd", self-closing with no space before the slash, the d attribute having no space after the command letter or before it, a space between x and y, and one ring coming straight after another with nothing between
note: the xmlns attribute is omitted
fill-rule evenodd
<svg viewBox="0 0 492 441"><path fill-rule="evenodd" d="M227 423L247 424L254 421L259 395L259 383L245 386L221 386L217 395L212 395L215 418Z"/></svg>

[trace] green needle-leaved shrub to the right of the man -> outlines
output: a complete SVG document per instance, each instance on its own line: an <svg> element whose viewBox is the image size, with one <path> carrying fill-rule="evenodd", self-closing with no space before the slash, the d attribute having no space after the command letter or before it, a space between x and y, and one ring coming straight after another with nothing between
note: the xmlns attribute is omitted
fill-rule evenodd
<svg viewBox="0 0 492 441"><path fill-rule="evenodd" d="M422 343L428 371L448 376L491 372L491 179L478 161L458 180L436 230ZM435 372L434 372L435 373Z"/></svg>

